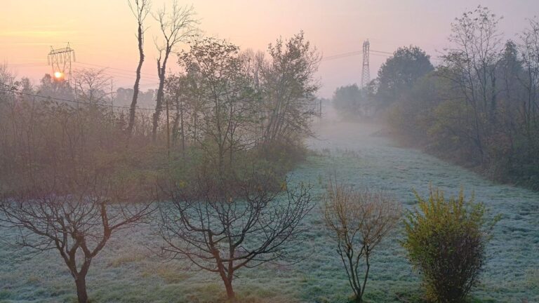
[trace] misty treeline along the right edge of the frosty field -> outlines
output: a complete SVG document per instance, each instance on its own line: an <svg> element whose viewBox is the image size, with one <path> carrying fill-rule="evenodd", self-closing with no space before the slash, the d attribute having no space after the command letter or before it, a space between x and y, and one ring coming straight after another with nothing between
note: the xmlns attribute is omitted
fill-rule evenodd
<svg viewBox="0 0 539 303"><path fill-rule="evenodd" d="M539 22L503 41L500 20L484 7L464 13L436 67L420 48L399 48L364 91L335 90L335 107L371 104L406 144L539 189Z"/></svg>

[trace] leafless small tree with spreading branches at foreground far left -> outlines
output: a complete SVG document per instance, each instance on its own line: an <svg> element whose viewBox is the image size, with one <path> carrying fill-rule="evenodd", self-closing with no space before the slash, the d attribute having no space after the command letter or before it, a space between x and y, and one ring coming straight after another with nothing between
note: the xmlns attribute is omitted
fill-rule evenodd
<svg viewBox="0 0 539 303"><path fill-rule="evenodd" d="M58 250L74 278L79 303L88 302L86 275L93 258L115 232L150 212L149 203L126 203L132 201L132 190L101 187L100 177L79 182L53 177L0 199L0 227L19 233L14 244L20 248Z"/></svg>

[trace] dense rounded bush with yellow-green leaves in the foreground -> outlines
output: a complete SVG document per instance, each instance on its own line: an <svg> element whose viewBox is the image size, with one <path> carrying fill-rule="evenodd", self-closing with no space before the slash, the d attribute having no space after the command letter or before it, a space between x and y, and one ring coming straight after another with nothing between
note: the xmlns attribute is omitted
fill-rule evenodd
<svg viewBox="0 0 539 303"><path fill-rule="evenodd" d="M406 216L408 259L422 274L427 298L432 302L463 302L479 282L485 262L488 225L485 207L466 200L463 190L445 198L430 189L427 200L417 192L418 209Z"/></svg>

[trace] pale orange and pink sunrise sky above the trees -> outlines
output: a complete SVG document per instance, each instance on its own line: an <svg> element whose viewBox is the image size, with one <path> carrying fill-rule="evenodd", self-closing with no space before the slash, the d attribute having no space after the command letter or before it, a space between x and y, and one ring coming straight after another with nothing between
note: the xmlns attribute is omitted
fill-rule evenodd
<svg viewBox="0 0 539 303"><path fill-rule="evenodd" d="M75 50L77 68L109 67L114 86L132 87L138 64L136 20L127 0L0 0L0 62L19 77L34 83L45 73L53 48ZM539 15L538 0L226 0L179 1L194 6L199 28L206 36L227 39L242 49L266 50L279 36L286 39L303 30L324 57L361 50L368 39L371 50L392 53L399 46L415 45L432 55L433 63L444 48L451 22L477 5L503 16L500 32L517 40L526 18ZM171 0L153 0L152 8L170 6ZM157 51L153 36L157 22L147 18L146 61L142 89L157 87ZM184 44L176 50L186 48ZM173 62L175 62L175 57ZM319 95L331 97L338 86L361 81L361 55L320 63ZM371 53L375 78L385 55ZM174 72L174 65L171 65Z"/></svg>

